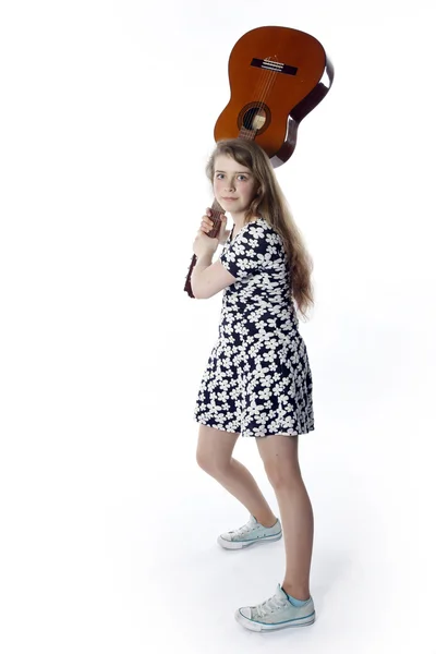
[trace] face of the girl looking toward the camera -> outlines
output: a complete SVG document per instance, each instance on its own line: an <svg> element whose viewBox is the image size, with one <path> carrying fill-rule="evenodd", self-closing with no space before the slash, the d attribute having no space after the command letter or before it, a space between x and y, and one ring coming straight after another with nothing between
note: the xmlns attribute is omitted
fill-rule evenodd
<svg viewBox="0 0 436 654"><path fill-rule="evenodd" d="M214 194L233 219L245 216L256 195L256 186L250 168L238 164L229 155L218 155L215 158Z"/></svg>

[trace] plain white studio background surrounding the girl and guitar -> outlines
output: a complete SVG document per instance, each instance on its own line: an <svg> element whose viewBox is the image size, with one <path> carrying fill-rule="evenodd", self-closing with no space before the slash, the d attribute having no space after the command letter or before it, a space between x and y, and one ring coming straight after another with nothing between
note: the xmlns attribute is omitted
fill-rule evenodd
<svg viewBox="0 0 436 654"><path fill-rule="evenodd" d="M436 652L432 11L2 2L4 654ZM308 32L336 70L277 170L315 264L318 619L265 635L233 614L283 580L283 542L216 544L249 518L195 461L221 294L183 291L228 58L262 25ZM235 456L277 511L255 443Z"/></svg>

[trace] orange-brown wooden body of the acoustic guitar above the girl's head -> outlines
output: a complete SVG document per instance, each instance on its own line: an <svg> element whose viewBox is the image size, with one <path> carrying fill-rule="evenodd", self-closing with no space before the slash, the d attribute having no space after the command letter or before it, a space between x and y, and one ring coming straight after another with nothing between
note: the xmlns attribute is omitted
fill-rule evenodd
<svg viewBox="0 0 436 654"><path fill-rule="evenodd" d="M292 155L301 120L327 95L334 66L320 43L290 27L257 27L229 59L230 101L215 141L253 138L277 168Z"/></svg>

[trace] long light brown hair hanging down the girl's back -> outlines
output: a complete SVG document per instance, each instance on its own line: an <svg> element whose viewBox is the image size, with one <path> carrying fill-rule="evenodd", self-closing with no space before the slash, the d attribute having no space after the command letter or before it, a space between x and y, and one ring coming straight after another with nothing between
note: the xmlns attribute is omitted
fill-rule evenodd
<svg viewBox="0 0 436 654"><path fill-rule="evenodd" d="M215 159L219 155L229 155L252 171L258 185L258 195L253 198L245 214L244 225L256 216L262 216L280 234L289 263L290 300L295 301L301 316L307 318L307 308L314 305L311 282L313 259L293 220L267 154L254 141L244 138L218 141L206 166L206 174L211 183L214 183Z"/></svg>

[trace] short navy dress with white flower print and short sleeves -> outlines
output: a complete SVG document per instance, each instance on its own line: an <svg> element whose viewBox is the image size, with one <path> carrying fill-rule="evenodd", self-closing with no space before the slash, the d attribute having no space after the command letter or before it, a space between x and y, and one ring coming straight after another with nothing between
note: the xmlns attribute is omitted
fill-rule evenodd
<svg viewBox="0 0 436 654"><path fill-rule="evenodd" d="M306 434L315 428L312 373L282 239L263 217L232 233L219 259L237 281L223 290L194 420L256 438Z"/></svg>

